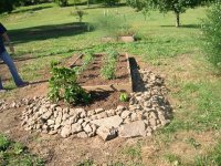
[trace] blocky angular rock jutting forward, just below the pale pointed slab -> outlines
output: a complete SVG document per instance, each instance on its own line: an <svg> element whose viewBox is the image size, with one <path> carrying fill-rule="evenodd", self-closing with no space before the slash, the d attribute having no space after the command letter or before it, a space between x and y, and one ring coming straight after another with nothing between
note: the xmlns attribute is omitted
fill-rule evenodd
<svg viewBox="0 0 221 166"><path fill-rule="evenodd" d="M117 129L115 128L107 128L107 127L99 127L97 129L97 135L99 135L104 141L110 141L115 137L117 137Z"/></svg>

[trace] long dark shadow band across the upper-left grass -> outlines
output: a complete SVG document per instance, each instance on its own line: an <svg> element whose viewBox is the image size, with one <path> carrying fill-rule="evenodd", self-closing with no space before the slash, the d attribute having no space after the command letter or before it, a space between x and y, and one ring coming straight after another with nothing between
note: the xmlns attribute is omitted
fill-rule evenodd
<svg viewBox="0 0 221 166"><path fill-rule="evenodd" d="M25 29L9 30L15 44L38 40L57 39L61 37L77 35L87 32L86 22L73 22L65 24L40 25ZM92 31L93 29L91 29Z"/></svg>

